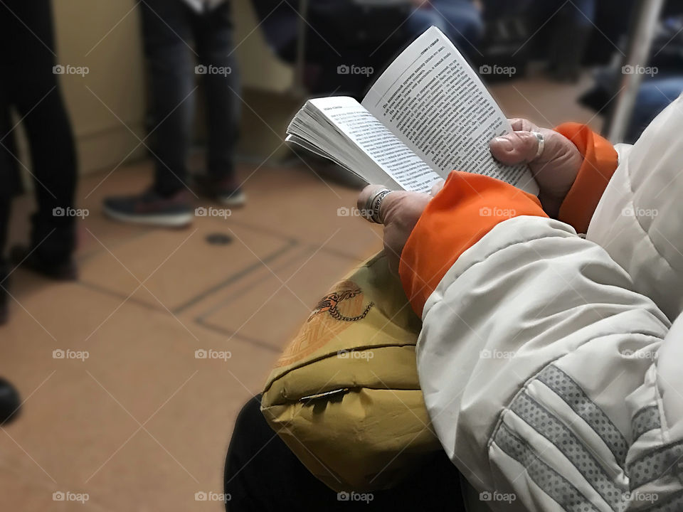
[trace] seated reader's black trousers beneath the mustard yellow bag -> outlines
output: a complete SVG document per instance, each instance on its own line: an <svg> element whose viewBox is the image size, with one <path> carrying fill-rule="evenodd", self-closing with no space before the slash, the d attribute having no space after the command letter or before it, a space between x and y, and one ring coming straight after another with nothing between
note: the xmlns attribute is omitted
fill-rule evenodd
<svg viewBox="0 0 683 512"><path fill-rule="evenodd" d="M375 491L371 501L339 501L277 437L260 412L260 395L243 407L228 449L228 512L465 511L460 473L445 453L396 489Z"/></svg>

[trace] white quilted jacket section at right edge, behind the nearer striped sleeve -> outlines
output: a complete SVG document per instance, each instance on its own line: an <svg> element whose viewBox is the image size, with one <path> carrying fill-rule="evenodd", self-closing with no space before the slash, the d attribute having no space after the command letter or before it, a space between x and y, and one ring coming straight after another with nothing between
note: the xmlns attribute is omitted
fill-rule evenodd
<svg viewBox="0 0 683 512"><path fill-rule="evenodd" d="M595 210L586 238L604 247L674 320L683 311L683 96L672 102L628 152Z"/></svg>

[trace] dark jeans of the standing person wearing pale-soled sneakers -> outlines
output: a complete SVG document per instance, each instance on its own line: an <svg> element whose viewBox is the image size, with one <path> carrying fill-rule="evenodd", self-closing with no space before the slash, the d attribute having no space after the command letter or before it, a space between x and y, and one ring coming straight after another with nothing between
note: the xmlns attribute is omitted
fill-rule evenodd
<svg viewBox="0 0 683 512"><path fill-rule="evenodd" d="M162 195L184 188L199 74L206 93L208 174L217 179L233 175L241 100L232 33L230 2L203 14L181 0L142 3L157 141L154 188Z"/></svg>

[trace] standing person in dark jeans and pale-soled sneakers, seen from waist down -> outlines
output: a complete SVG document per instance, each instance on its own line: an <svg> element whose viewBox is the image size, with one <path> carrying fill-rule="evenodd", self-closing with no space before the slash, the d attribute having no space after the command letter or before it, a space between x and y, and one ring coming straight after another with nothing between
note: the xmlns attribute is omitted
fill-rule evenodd
<svg viewBox="0 0 683 512"><path fill-rule="evenodd" d="M154 183L143 193L105 198L104 211L125 222L183 226L193 218L187 158L196 75L204 78L208 117L207 174L196 176L198 192L226 206L245 201L234 169L240 98L231 5L226 0L144 0L141 7L157 141Z"/></svg>

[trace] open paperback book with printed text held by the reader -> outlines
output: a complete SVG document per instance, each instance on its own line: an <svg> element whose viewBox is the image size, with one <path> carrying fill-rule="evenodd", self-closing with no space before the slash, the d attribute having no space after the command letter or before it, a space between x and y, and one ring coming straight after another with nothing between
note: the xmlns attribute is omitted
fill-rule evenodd
<svg viewBox="0 0 683 512"><path fill-rule="evenodd" d="M457 170L536 194L529 166L504 166L489 151L489 142L508 132L465 58L431 27L389 65L362 105L345 96L308 100L286 140L391 190L429 192Z"/></svg>

